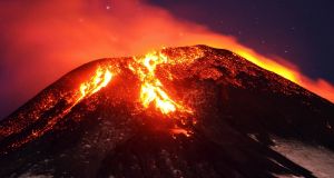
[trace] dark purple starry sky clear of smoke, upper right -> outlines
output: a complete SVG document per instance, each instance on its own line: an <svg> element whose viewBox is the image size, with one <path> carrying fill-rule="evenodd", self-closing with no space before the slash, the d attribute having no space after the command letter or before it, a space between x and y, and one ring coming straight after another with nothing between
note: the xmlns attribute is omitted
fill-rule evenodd
<svg viewBox="0 0 334 178"><path fill-rule="evenodd" d="M259 53L296 63L312 78L334 82L334 1L150 0L179 19L232 34Z"/></svg>

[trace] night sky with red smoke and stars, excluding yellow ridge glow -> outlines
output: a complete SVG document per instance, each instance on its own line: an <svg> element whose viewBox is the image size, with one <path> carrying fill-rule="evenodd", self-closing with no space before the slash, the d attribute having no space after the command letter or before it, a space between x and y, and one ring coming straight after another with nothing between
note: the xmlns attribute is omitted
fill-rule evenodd
<svg viewBox="0 0 334 178"><path fill-rule="evenodd" d="M330 0L0 1L0 119L94 59L213 37L334 83L333 31Z"/></svg>

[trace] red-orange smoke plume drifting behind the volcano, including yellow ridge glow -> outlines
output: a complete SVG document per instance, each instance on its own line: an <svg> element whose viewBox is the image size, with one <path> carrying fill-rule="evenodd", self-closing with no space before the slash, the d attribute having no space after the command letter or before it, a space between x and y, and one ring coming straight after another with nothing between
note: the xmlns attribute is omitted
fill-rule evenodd
<svg viewBox="0 0 334 178"><path fill-rule="evenodd" d="M19 12L19 13L18 13ZM240 44L234 37L178 20L145 1L90 0L1 1L3 76L1 103L18 108L42 88L92 59L135 56L151 49L208 44L229 49L317 95L334 101L333 85L307 78L297 68L276 62ZM22 90L24 88L24 90ZM10 98L10 99L9 99ZM4 111L1 111L3 113ZM3 116L2 116L3 117Z"/></svg>

